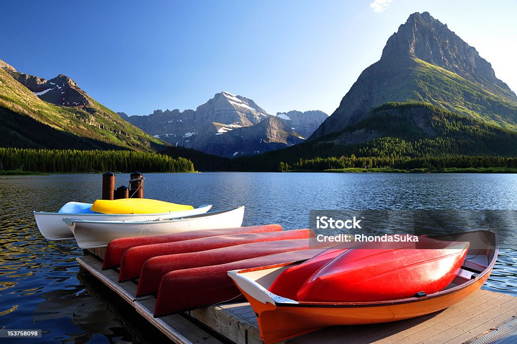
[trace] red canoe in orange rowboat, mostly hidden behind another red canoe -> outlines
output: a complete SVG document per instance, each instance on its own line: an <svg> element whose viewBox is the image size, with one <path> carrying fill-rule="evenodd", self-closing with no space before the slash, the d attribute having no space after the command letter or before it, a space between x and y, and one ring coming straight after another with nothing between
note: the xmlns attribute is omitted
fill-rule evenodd
<svg viewBox="0 0 517 344"><path fill-rule="evenodd" d="M301 264L284 270L277 279L275 279L271 287L269 287L269 291L276 295L283 296L284 298L296 300L298 289L300 289L312 274L355 245L357 245L357 243L352 242L336 246L335 248L329 248Z"/></svg>

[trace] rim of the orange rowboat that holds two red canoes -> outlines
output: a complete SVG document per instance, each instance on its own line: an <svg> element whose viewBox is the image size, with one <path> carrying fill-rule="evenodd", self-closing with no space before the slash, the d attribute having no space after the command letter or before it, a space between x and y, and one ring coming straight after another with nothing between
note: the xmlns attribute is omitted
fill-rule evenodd
<svg viewBox="0 0 517 344"><path fill-rule="evenodd" d="M449 289L440 290L438 292L435 292L435 293L432 293L432 294L429 294L429 295L425 295L425 296L421 296L419 298L416 297L416 296L413 296L412 298L405 298L405 299L395 299L395 300L385 300L385 301L363 301L363 302L296 301L296 300L292 300L292 299L283 298L280 295L274 294L274 293L270 292L269 290L267 290L266 288L262 287L260 284L256 283L255 281L251 281L251 282L253 284L258 284L261 288L265 289L270 294L270 295L268 295L269 298L271 300L275 301L274 305L277 306L277 307L363 308L363 307L381 307L381 306L402 305L402 304L407 304L407 303L414 303L414 302L420 302L420 301L435 299L435 298L439 298L440 296L452 294L454 292L462 290L462 289L464 289L464 288L466 288L466 287L468 287L468 286L478 282L480 279L484 278L485 275L490 274L490 272L492 271L492 269L493 269L493 267L494 267L494 265L495 265L495 263L497 261L497 255L498 255L498 252L499 252L497 232L492 231L492 230L479 229L479 230L458 232L458 233L452 233L452 234L454 234L454 235L461 235L461 234L475 233L475 232L490 232L490 233L492 233L494 235L494 242L493 242L493 245L494 245L494 248L493 248L494 255L492 257L492 260L488 264L488 266L483 271L479 272L479 274L478 274L478 276L476 276L476 278L472 278L472 279L468 280L467 282L462 283L462 284L460 284L458 286L455 286L455 287L452 287L452 288L449 288ZM450 234L440 234L440 235L437 235L436 237L445 236L445 235L450 235ZM435 237L429 237L429 238L435 238ZM491 248L488 248L488 249L491 249ZM465 258L464 261L466 259L467 258ZM281 267L285 267L286 265L291 265L291 264L296 264L296 263L301 263L301 262L303 262L303 261L288 262L288 263L282 263L282 264L276 264L276 265L269 265L267 267L258 267L258 268L244 269L244 270L233 270L233 271L229 271L228 274L229 275L230 274L232 274L232 275L239 275L241 273L260 271L260 270L266 270L266 269L281 268ZM242 276L241 278L246 278L246 277ZM246 280L248 282L250 282L250 280L248 278L246 278ZM287 300L287 301L282 301L282 299L283 300ZM260 302L260 301L258 301L258 302Z"/></svg>

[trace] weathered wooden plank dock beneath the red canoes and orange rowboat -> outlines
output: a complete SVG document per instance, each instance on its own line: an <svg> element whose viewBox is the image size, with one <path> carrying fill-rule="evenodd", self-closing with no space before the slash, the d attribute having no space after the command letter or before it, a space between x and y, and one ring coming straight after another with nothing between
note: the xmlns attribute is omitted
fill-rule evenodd
<svg viewBox="0 0 517 344"><path fill-rule="evenodd" d="M262 340L255 314L248 303L210 306L162 318L154 318L156 299L153 296L135 298L134 282L118 283L115 270L102 271L97 256L103 250L77 258L79 265L98 278L132 305L139 314L176 343L260 344ZM95 256L94 256L95 255ZM339 326L310 333L288 341L290 344L315 343L471 343L483 336L495 337L501 326L517 318L517 298L479 290L469 298L443 311L419 318L384 324ZM517 331L517 330L516 330ZM505 337L516 336L517 333Z"/></svg>

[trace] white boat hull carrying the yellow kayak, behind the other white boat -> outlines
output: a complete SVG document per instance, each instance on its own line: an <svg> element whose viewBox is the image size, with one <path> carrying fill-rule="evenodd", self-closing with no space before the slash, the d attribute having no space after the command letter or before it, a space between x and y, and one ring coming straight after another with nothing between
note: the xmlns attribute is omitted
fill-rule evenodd
<svg viewBox="0 0 517 344"><path fill-rule="evenodd" d="M206 205L192 210L176 211L171 213L155 213L155 214L100 214L100 213L47 213L41 211L34 212L36 224L43 237L47 240L66 240L74 239L70 228L63 222L63 218L69 217L75 220L84 221L151 221L151 220L167 220L170 218L178 218L185 216L193 216L204 214L210 210L212 206Z"/></svg>

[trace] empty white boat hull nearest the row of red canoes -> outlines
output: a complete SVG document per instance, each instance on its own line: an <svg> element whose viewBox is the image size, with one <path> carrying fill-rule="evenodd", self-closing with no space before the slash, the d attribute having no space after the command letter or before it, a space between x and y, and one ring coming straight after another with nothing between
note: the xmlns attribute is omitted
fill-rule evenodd
<svg viewBox="0 0 517 344"><path fill-rule="evenodd" d="M168 221L80 221L64 218L81 248L103 247L118 238L153 236L198 229L221 229L242 226L244 207L210 212Z"/></svg>

